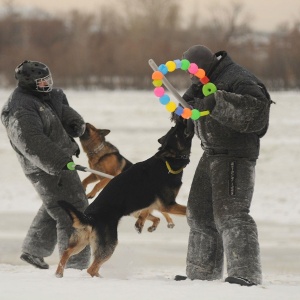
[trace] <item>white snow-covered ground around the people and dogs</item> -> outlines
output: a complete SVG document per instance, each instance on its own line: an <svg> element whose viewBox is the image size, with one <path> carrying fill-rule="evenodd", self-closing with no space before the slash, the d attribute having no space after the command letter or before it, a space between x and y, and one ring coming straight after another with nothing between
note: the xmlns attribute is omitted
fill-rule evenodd
<svg viewBox="0 0 300 300"><path fill-rule="evenodd" d="M72 107L87 122L111 130L107 140L132 162L152 156L159 146L157 139L172 125L169 114L151 91L65 92ZM9 94L9 90L0 90L1 107ZM49 270L22 262L22 240L40 200L0 125L1 299L299 299L300 94L273 92L271 96L276 104L271 109L270 129L261 141L251 207L259 230L262 285L241 287L223 280L175 282L174 275L185 274L188 226L182 217L173 218L173 229L168 229L161 218L156 232L149 233L145 228L141 235L133 228L133 218L123 218L119 245L100 271L103 278L91 278L86 270L72 269L66 269L62 279L56 278L57 252L46 258ZM181 204L186 204L201 153L200 142L195 138L191 163L184 171L177 198ZM82 152L75 162L87 166L85 154Z"/></svg>

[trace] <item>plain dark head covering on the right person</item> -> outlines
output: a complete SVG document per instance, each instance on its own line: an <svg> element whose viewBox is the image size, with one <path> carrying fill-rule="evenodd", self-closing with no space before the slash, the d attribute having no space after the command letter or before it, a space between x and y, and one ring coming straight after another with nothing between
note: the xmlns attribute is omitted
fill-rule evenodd
<svg viewBox="0 0 300 300"><path fill-rule="evenodd" d="M215 54L202 45L192 46L183 53L182 57L191 63L195 63L198 68L205 70L206 74L210 72L212 66L218 61ZM198 78L195 78L195 80L199 83Z"/></svg>

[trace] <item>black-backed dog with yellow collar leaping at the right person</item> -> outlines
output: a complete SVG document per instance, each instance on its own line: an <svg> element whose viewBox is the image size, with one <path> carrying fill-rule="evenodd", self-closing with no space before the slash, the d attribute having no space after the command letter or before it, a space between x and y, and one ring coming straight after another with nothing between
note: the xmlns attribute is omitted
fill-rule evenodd
<svg viewBox="0 0 300 300"><path fill-rule="evenodd" d="M65 201L59 202L71 217L75 230L58 264L57 277L63 276L70 256L87 245L91 246L94 256L87 272L100 276L101 265L117 246L118 223L123 216L146 209L136 223L136 226L143 226L147 213L153 209L186 214L186 206L175 200L182 184L183 169L189 163L192 137L193 133L187 132L183 123L177 123L159 139L161 147L154 156L113 178L84 213Z"/></svg>

